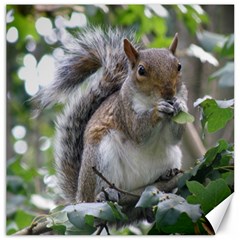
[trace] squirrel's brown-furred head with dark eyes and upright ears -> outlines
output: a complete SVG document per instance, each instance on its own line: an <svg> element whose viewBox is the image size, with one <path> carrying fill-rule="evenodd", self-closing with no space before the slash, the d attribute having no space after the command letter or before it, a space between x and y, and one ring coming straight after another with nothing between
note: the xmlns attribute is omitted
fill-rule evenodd
<svg viewBox="0 0 240 240"><path fill-rule="evenodd" d="M176 94L181 64L175 57L178 34L168 49L152 48L137 51L124 39L124 51L130 63L131 79L140 92L163 99Z"/></svg>

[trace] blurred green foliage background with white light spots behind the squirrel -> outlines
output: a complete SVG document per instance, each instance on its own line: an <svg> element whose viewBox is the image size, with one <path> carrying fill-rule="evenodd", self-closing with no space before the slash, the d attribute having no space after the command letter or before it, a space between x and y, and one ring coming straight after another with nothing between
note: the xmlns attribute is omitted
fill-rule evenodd
<svg viewBox="0 0 240 240"><path fill-rule="evenodd" d="M54 183L52 142L55 113L31 118L28 100L54 77L54 62L68 34L88 25L130 28L147 47L168 47L179 33L182 79L189 90L193 131L201 136L193 103L205 95L234 95L233 5L8 5L6 7L7 98L7 233L28 226L33 218L59 203ZM193 136L192 136L193 137ZM185 137L186 139L187 137ZM200 139L201 149L217 139L234 139L233 121ZM185 168L199 156L184 141ZM200 151L201 152L201 151ZM130 228L129 233L138 229Z"/></svg>

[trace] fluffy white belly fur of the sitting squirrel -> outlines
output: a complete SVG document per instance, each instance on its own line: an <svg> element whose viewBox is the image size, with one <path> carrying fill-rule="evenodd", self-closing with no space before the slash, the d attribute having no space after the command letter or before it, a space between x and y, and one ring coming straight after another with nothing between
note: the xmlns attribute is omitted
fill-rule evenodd
<svg viewBox="0 0 240 240"><path fill-rule="evenodd" d="M169 130L156 129L154 132L142 145L123 141L122 134L115 130L107 134L99 145L99 165L103 175L116 186L130 191L153 183L168 169L180 169L182 153L179 146L163 137L169 136Z"/></svg>

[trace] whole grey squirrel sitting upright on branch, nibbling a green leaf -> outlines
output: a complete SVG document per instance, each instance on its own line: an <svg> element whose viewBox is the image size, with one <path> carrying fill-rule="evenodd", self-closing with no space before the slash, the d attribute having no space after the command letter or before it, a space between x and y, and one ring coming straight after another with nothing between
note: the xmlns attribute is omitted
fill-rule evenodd
<svg viewBox="0 0 240 240"><path fill-rule="evenodd" d="M66 202L93 202L110 182L131 192L180 169L187 89L169 48L144 49L132 33L87 28L64 47L52 83L34 97L38 110L64 103L57 117L57 181Z"/></svg>

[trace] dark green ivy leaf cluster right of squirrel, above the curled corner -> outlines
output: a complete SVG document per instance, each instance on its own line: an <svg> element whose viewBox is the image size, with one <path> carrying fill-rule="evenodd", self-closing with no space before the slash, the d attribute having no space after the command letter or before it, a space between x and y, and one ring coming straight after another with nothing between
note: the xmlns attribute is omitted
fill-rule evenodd
<svg viewBox="0 0 240 240"><path fill-rule="evenodd" d="M233 154L232 144L220 140L180 178L178 193L189 203L200 204L207 214L234 191Z"/></svg>

